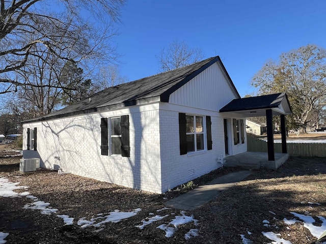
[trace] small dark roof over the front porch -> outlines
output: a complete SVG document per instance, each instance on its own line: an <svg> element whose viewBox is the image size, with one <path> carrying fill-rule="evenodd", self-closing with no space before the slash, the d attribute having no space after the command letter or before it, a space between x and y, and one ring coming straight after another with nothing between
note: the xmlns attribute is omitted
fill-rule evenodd
<svg viewBox="0 0 326 244"><path fill-rule="evenodd" d="M286 97L285 93L276 93L257 97L233 99L230 103L221 108L220 112L277 108L281 104L284 96Z"/></svg>

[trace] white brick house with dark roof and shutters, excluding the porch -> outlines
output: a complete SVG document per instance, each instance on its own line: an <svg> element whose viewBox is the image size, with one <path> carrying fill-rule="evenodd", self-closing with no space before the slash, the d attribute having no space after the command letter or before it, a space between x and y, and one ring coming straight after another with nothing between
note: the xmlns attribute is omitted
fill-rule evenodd
<svg viewBox="0 0 326 244"><path fill-rule="evenodd" d="M164 193L247 151L240 96L219 56L104 89L23 121L23 158L41 167Z"/></svg>

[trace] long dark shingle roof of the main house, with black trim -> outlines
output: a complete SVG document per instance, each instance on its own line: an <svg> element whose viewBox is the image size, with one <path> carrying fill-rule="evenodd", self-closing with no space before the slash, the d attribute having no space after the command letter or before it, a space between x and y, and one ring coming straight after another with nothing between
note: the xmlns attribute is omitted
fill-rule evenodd
<svg viewBox="0 0 326 244"><path fill-rule="evenodd" d="M104 110L107 111L108 109L146 104L148 102L169 102L169 96L175 92L175 90L216 62L220 63L230 81L230 84L233 86L235 93L240 98L220 57L216 56L180 69L108 87L101 92L94 94L90 98L80 100L48 115L22 121L22 123L100 112Z"/></svg>

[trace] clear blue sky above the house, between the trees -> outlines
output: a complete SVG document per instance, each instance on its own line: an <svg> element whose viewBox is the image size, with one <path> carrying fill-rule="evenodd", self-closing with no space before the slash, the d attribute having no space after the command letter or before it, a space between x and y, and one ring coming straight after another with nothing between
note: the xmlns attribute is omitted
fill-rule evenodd
<svg viewBox="0 0 326 244"><path fill-rule="evenodd" d="M268 59L315 44L326 48L326 1L129 0L121 11L121 75L129 81L159 73L155 55L177 39L219 55L241 97Z"/></svg>

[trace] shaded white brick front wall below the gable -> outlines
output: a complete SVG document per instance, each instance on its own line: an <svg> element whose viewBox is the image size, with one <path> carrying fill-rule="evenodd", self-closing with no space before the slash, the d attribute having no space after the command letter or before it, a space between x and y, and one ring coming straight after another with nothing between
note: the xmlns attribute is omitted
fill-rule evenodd
<svg viewBox="0 0 326 244"><path fill-rule="evenodd" d="M165 106L162 106L165 107ZM162 192L180 186L203 174L221 167L218 158L224 154L223 118L211 116L212 149L180 155L179 111L180 106L167 106L159 110ZM172 110L175 107L176 110ZM196 114L207 111L197 109Z"/></svg>

